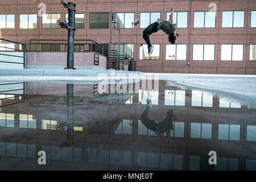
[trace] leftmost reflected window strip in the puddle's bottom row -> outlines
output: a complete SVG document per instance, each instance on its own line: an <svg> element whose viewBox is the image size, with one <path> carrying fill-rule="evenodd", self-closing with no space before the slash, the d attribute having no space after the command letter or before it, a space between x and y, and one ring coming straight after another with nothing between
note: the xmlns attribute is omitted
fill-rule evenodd
<svg viewBox="0 0 256 182"><path fill-rule="evenodd" d="M0 156L36 158L36 144L0 142Z"/></svg>

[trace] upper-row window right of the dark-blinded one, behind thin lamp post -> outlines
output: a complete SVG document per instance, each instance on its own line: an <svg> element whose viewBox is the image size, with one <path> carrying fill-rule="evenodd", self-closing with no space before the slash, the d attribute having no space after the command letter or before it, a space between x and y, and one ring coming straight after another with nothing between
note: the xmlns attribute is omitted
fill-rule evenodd
<svg viewBox="0 0 256 182"><path fill-rule="evenodd" d="M120 23L120 28L131 28L131 22L134 22L134 13L116 13L115 22ZM115 23L117 28L117 23Z"/></svg>

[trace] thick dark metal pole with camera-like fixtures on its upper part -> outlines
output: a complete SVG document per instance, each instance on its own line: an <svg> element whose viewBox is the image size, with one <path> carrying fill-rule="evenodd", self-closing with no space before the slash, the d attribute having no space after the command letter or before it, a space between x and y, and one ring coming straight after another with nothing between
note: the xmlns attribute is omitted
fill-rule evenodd
<svg viewBox="0 0 256 182"><path fill-rule="evenodd" d="M75 14L76 14L76 4L73 2L65 3L64 1L60 1L61 5L63 5L68 10L68 19L65 19L65 23L60 19L57 20L57 24L61 28L68 30L68 56L67 56L67 68L65 69L75 69L74 68L74 39L75 39Z"/></svg>

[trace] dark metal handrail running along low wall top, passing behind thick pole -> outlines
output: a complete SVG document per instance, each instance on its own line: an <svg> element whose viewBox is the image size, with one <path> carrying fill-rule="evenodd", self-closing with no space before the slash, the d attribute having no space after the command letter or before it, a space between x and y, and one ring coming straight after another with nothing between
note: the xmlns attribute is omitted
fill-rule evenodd
<svg viewBox="0 0 256 182"><path fill-rule="evenodd" d="M32 43L34 41L38 41L38 43ZM67 45L68 43L40 43L41 41L46 41L46 42L49 42L49 41L68 41L67 39L30 39L30 42L28 44L28 49L29 51L31 51L31 45L33 44L47 44L47 45ZM90 51L92 52L93 51L93 46L95 47L98 47L100 50L101 50L101 53L103 55L104 53L104 47L101 46L100 44L98 44L97 42L95 42L94 40L92 39L75 39L75 42L81 42L81 41L84 41L86 43L79 43L79 45L90 45L90 49L89 50L85 50L85 51ZM89 42L89 43L88 43ZM76 46L76 43L75 43L75 46Z"/></svg>

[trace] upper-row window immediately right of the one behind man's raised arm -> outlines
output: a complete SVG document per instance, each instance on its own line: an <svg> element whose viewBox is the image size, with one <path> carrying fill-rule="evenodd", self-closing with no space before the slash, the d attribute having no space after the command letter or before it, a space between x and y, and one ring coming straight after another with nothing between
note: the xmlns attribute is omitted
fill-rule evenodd
<svg viewBox="0 0 256 182"><path fill-rule="evenodd" d="M194 28L215 28L216 11L194 12Z"/></svg>

